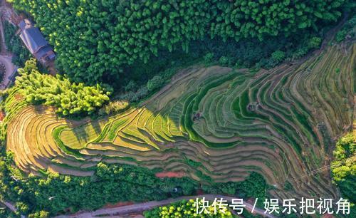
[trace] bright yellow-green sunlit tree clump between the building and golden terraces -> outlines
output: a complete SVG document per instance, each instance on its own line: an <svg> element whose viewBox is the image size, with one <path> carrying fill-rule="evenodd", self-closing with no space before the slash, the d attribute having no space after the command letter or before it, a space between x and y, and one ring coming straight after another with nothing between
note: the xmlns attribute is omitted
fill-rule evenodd
<svg viewBox="0 0 356 218"><path fill-rule="evenodd" d="M60 75L51 76L38 71L36 61L26 61L24 68L19 68L16 86L26 96L29 103L43 103L56 106L63 115L91 114L109 100L100 85L86 86L83 83L70 83Z"/></svg>

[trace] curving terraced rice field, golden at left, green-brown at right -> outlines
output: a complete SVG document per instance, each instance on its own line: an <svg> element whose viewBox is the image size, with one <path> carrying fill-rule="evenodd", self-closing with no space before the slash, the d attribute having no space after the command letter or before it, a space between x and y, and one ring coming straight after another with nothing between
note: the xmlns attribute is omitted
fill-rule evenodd
<svg viewBox="0 0 356 218"><path fill-rule="evenodd" d="M240 181L259 172L276 197L330 196L334 140L352 128L356 45L332 46L269 71L192 67L137 108L102 120L65 120L28 106L7 149L25 172L93 175L100 162ZM193 163L193 164L192 164ZM294 190L283 186L290 182Z"/></svg>

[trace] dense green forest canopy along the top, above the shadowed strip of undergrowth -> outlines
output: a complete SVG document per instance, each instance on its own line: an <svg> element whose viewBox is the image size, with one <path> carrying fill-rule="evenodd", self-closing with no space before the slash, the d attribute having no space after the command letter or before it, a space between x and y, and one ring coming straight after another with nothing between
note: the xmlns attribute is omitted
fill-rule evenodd
<svg viewBox="0 0 356 218"><path fill-rule="evenodd" d="M162 52L187 52L189 43L205 38L236 43L283 36L291 38L287 46L295 33L320 31L318 24L336 21L347 1L10 2L33 16L55 47L59 68L66 69L75 82L93 84L120 78L134 63L147 63Z"/></svg>

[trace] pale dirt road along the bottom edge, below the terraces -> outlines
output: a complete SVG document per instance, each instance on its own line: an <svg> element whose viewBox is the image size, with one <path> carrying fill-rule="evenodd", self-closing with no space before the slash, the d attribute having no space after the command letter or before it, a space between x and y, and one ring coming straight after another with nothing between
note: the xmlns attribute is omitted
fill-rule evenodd
<svg viewBox="0 0 356 218"><path fill-rule="evenodd" d="M178 198L170 198L170 199L164 199L162 201L152 201L152 202L145 202L145 203L138 203L138 204L132 204L132 205L127 205L127 206L122 206L122 207L112 207L112 208L103 208L103 209L98 209L93 212L82 212L78 214L73 214L73 215L63 215L63 216L58 216L57 218L68 218L68 217L76 217L76 218L89 218L89 217L99 217L99 216L123 216L127 214L139 214L142 213L146 210L153 209L155 207L160 207L164 206L167 204L171 204L172 202L177 202L181 201L183 199L197 199L205 197L205 199L209 199L210 201L214 201L215 198L223 198L226 199L228 202L231 202L234 197L228 197L228 196L223 196L223 195L216 195L216 194L202 194L202 195L197 195L197 196L187 196L187 197L178 197ZM247 202L244 202L246 205L245 209L247 209L249 212L252 211L253 205L248 204ZM271 214L265 214L263 209L258 209L255 208L254 212L255 214L260 214L263 217L269 217L269 218L274 218L273 215Z"/></svg>

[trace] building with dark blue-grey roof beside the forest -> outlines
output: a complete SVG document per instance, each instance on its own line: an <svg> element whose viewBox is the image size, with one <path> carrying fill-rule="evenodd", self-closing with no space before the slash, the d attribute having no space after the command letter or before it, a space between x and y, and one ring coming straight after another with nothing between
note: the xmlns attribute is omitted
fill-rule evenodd
<svg viewBox="0 0 356 218"><path fill-rule="evenodd" d="M28 51L30 51L38 61L46 65L46 63L56 58L56 54L43 37L41 31L34 27L30 21L27 19L21 21L19 27L21 28L20 38Z"/></svg>

